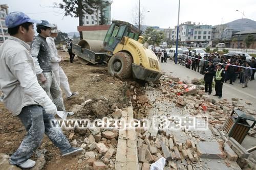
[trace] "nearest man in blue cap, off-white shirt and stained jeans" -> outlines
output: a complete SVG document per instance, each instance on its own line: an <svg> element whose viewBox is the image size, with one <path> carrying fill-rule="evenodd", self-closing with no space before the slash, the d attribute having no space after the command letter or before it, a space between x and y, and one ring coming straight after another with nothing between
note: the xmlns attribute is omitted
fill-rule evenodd
<svg viewBox="0 0 256 170"><path fill-rule="evenodd" d="M0 90L3 92L0 101L21 120L28 132L9 159L10 164L21 168L35 165L30 157L40 146L44 134L60 149L62 156L83 151L71 147L61 128L52 126L57 108L38 83L30 46L26 43L33 40L33 23L40 22L23 12L8 14L5 25L11 37L0 46Z"/></svg>

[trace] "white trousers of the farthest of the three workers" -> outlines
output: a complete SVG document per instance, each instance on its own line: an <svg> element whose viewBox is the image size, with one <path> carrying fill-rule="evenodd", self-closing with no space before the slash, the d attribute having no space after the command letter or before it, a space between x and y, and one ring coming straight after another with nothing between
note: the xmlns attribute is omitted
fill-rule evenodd
<svg viewBox="0 0 256 170"><path fill-rule="evenodd" d="M66 98L70 97L72 92L69 87L68 78L63 69L61 67L57 67L57 69L53 69L53 72L59 87L61 87L65 92Z"/></svg>

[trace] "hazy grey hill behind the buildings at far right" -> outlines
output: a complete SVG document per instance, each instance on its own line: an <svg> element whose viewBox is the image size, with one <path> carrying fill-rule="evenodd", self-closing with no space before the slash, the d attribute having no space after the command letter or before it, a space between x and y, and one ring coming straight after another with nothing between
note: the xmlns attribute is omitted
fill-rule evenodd
<svg viewBox="0 0 256 170"><path fill-rule="evenodd" d="M256 30L256 21L247 18L233 20L226 25L234 31Z"/></svg>

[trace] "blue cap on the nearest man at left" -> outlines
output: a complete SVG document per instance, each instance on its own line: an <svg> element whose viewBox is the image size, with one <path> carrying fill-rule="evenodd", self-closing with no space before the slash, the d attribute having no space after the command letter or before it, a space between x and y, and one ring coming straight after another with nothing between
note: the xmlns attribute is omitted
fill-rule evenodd
<svg viewBox="0 0 256 170"><path fill-rule="evenodd" d="M25 22L41 23L40 20L31 19L28 15L23 12L12 12L6 16L5 25L8 28L14 28L22 25Z"/></svg>

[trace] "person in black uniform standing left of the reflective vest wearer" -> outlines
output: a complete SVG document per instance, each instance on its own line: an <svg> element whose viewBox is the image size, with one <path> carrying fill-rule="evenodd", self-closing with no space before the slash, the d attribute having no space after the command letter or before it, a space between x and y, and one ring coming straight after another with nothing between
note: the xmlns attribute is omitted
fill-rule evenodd
<svg viewBox="0 0 256 170"><path fill-rule="evenodd" d="M208 94L211 94L211 84L212 84L212 79L214 78L215 75L215 67L212 65L212 62L209 61L208 65L204 69L204 90L205 92L208 92Z"/></svg>

